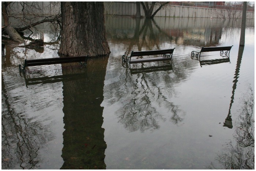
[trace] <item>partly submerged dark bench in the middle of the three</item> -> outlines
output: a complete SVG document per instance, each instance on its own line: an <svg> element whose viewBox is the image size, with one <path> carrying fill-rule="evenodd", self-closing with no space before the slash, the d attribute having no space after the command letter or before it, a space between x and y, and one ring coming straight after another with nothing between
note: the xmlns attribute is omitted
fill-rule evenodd
<svg viewBox="0 0 256 171"><path fill-rule="evenodd" d="M138 51L138 52L132 51L129 57L126 55L123 55L122 61L131 64L131 63L171 60L174 49L175 48L166 49L166 50L151 50L151 51ZM151 56L151 55L162 55L162 57L132 59L132 57L142 57L142 56Z"/></svg>

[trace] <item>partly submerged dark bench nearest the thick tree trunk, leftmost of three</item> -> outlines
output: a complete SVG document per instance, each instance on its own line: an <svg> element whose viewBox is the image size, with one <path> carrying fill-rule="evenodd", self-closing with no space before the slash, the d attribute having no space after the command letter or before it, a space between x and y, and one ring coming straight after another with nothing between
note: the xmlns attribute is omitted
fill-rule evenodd
<svg viewBox="0 0 256 171"><path fill-rule="evenodd" d="M26 72L26 67L28 66L52 65L60 63L84 62L83 65L86 65L87 58L87 56L83 56L64 58L25 59L24 65L19 65L19 71L24 74Z"/></svg>

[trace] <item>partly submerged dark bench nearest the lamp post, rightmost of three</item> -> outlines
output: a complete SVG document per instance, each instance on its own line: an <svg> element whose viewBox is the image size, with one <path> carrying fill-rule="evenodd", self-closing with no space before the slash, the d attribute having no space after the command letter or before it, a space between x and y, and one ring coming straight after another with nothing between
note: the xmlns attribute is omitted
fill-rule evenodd
<svg viewBox="0 0 256 171"><path fill-rule="evenodd" d="M230 53L231 47L232 46L225 46L225 47L202 47L200 52L196 52L196 51L192 51L191 52L191 59L196 57L196 59L199 59L199 61L200 61L201 53L203 53L203 52L213 52L213 51L220 51L221 57L229 58L229 53Z"/></svg>

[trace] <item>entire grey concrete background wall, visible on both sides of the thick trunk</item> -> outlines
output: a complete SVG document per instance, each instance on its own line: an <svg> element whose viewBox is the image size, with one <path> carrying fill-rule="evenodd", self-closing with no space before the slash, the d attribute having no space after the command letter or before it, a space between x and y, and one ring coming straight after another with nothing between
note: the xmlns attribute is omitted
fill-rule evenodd
<svg viewBox="0 0 256 171"><path fill-rule="evenodd" d="M38 2L39 5L44 6L43 13L56 14L60 12L60 2ZM136 2L104 2L106 15L120 15L120 16L135 16L136 15ZM154 11L159 7L155 5ZM11 14L20 14L22 6L20 2L15 2L10 8ZM41 11L42 12L42 11ZM185 18L219 18L218 13L227 11L221 9L210 8L195 8L195 7L181 7L174 5L166 5L158 11L156 17L185 17ZM140 5L140 14L144 16L144 11ZM242 12L236 13L236 18L242 18ZM228 17L227 17L228 18ZM247 19L254 19L254 12L247 12Z"/></svg>

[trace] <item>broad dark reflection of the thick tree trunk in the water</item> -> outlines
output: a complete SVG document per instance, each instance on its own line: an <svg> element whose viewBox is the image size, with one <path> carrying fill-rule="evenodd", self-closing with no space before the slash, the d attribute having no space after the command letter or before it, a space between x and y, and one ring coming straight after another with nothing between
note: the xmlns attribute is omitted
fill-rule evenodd
<svg viewBox="0 0 256 171"><path fill-rule="evenodd" d="M61 169L105 169L103 86L108 57L89 59L80 79L63 82L64 129ZM64 66L64 65L63 65ZM63 70L63 75L79 69Z"/></svg>

